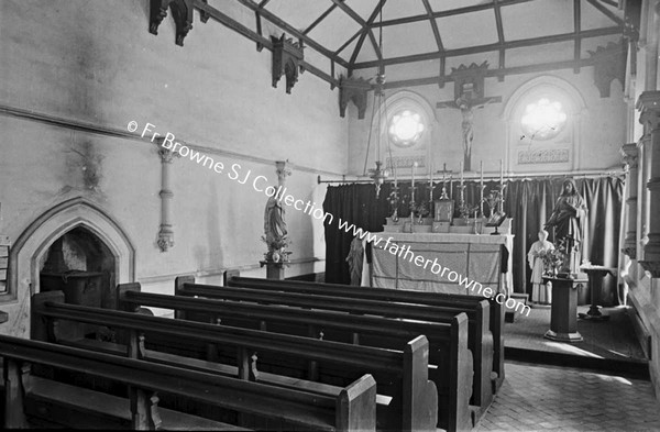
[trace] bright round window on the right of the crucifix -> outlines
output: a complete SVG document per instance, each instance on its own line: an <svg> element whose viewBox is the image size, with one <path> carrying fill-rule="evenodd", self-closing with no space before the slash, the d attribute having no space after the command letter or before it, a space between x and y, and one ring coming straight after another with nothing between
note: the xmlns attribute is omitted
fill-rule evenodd
<svg viewBox="0 0 660 432"><path fill-rule="evenodd" d="M559 101L541 98L525 108L520 124L522 132L530 140L550 140L563 130L566 119Z"/></svg>

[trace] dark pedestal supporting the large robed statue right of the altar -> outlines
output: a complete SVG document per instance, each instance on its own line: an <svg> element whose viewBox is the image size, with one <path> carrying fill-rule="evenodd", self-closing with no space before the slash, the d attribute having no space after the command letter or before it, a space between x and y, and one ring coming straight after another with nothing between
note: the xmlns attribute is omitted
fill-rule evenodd
<svg viewBox="0 0 660 432"><path fill-rule="evenodd" d="M544 337L558 342L582 342L578 332L578 287L586 279L543 277L543 283L552 283L552 309L550 330Z"/></svg>

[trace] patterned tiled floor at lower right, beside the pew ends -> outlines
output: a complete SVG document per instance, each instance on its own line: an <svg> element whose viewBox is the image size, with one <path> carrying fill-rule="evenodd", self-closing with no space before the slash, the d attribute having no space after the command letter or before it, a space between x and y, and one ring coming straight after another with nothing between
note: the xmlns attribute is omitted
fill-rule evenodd
<svg viewBox="0 0 660 432"><path fill-rule="evenodd" d="M649 381L506 363L506 379L477 431L660 431Z"/></svg>

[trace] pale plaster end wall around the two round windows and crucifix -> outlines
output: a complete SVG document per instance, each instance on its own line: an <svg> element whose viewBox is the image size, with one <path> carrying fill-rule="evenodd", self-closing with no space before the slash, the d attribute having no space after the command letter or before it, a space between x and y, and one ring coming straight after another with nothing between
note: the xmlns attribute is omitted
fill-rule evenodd
<svg viewBox="0 0 660 432"><path fill-rule="evenodd" d="M424 64L419 67L424 67ZM364 74L365 77L370 76L369 71ZM428 76L428 74L426 75ZM516 115L507 118L505 110L520 87L531 80L541 82L544 78L551 82L562 82L563 87L571 88L571 91L578 96L576 99L581 100L580 102L575 101L573 107L566 107L569 122L565 129L569 132L565 136L557 140L560 146L571 146L573 153L571 159L565 164L519 166L516 159L518 148L550 148L554 144L539 140L531 143L527 139L521 140L519 118ZM580 74L574 74L570 69L544 74L512 75L507 76L503 82L499 82L497 78L486 78L485 96L499 96L502 102L491 102L474 110L472 170L479 170L480 162L483 160L486 175L499 175L501 159L503 159L505 171L508 173L620 169L619 147L625 140L627 106L623 99L622 84L614 81L610 89L608 98L601 98L598 89L593 82L593 67L582 68ZM397 91L404 90L418 93L435 110L436 119L428 129L435 168L442 169L443 164L447 164L448 170L452 169L458 173L459 163L463 158L461 112L458 109L436 108L438 102L454 100L453 82L446 84L444 88L429 85L392 89L387 90L386 95L392 97ZM371 103L373 101L370 99L369 113L372 110ZM371 118L358 120L354 111L351 113L349 128L349 170L351 174L362 175ZM374 140L372 137L367 168L373 167ZM383 140L383 152L386 152L386 141Z"/></svg>

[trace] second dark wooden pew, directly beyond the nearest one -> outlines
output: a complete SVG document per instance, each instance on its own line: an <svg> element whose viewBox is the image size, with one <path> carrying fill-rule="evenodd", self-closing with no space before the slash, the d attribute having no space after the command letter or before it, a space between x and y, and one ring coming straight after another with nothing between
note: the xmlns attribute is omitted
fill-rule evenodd
<svg viewBox="0 0 660 432"><path fill-rule="evenodd" d="M133 287L135 284L129 284ZM124 287L127 288L127 287ZM61 297L58 298L57 295ZM364 370L373 370L375 377L385 377L384 383L393 383L393 388L399 389L393 395L392 403L385 411L385 423L397 430L435 430L437 423L437 391L432 381L428 380L428 341L419 336L403 346L403 351L355 346L344 343L320 341L285 334L275 334L256 330L238 329L224 325L213 325L183 320L172 320L131 312L107 309L86 308L63 302L64 297L58 291L44 292L33 298L33 315L42 322L35 334L41 337L53 336L54 320L74 320L96 325L106 325L130 330L130 341L124 353L139 345L140 333L146 334L146 341L168 339L176 344L187 341L212 343L222 347L233 347L235 355L234 376L241 379L258 380L274 387L305 390L308 394L327 394L331 386L300 387L296 379L275 380L274 375L261 374L254 364L253 352L260 353L260 359L296 358L315 361L321 365L330 364L343 370L344 376L352 381ZM86 345L89 346L89 345ZM109 350L108 352L112 352ZM216 372L227 368L212 368L200 365L199 362L186 362L185 358L146 352L144 358L150 362L178 364L201 370ZM174 362L174 363L173 363ZM312 384L314 385L314 384ZM342 386L343 387L343 386ZM336 388L336 387L334 387ZM337 395L329 395L337 397ZM394 420L396 419L396 420ZM392 423L396 421L396 425Z"/></svg>

